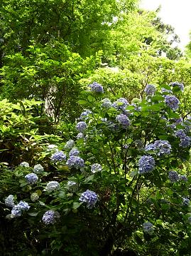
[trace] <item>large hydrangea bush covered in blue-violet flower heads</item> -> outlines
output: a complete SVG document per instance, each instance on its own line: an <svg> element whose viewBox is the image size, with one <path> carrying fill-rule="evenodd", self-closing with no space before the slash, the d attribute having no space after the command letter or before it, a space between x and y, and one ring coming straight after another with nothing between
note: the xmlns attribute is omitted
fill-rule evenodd
<svg viewBox="0 0 191 256"><path fill-rule="evenodd" d="M179 85L162 91L148 85L142 100L112 103L92 83L82 93L83 121L74 124L71 140L49 150L49 165L38 164L34 173L20 167L22 203L7 195L8 216L49 230L60 253L112 255L122 247L137 255L169 255L168 249L184 255L191 228L191 178L184 169L191 121L180 116L180 93Z"/></svg>

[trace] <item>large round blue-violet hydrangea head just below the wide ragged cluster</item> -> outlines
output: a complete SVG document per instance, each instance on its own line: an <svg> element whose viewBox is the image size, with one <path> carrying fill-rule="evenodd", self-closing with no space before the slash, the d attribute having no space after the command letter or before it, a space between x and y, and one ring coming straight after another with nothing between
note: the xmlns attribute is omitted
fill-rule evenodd
<svg viewBox="0 0 191 256"><path fill-rule="evenodd" d="M151 155L143 155L138 160L138 173L150 173L155 168L155 160Z"/></svg>

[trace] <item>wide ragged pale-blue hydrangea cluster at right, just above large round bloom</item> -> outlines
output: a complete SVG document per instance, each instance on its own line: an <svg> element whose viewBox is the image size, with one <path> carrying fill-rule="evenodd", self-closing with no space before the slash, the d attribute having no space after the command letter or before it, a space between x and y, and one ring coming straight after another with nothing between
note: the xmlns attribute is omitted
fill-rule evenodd
<svg viewBox="0 0 191 256"><path fill-rule="evenodd" d="M170 150L172 149L168 140L156 140L154 143L146 145L146 151L157 151L158 156L170 155Z"/></svg>

